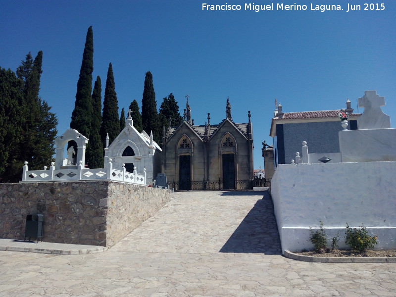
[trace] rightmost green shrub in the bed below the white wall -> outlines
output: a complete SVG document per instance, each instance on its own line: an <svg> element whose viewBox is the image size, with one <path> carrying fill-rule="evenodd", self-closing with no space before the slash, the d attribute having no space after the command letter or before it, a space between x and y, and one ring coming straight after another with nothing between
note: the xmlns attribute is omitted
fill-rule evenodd
<svg viewBox="0 0 396 297"><path fill-rule="evenodd" d="M367 248L373 248L377 244L377 235L370 236L366 227L359 226L358 228L350 228L347 223L347 230L345 231L345 243L351 247L352 250L363 252Z"/></svg>

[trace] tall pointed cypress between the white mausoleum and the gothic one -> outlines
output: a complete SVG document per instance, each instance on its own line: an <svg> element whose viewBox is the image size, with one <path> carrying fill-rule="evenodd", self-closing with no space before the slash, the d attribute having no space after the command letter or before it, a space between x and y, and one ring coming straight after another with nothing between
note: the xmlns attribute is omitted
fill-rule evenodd
<svg viewBox="0 0 396 297"><path fill-rule="evenodd" d="M145 87L142 99L142 124L143 130L153 134L154 141L160 143L160 127L158 123L157 101L155 101L154 85L151 72L146 72Z"/></svg>

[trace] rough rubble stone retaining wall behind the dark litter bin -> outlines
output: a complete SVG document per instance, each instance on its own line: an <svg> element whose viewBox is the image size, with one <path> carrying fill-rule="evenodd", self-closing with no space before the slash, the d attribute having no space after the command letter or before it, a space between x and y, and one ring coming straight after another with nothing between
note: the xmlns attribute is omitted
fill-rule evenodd
<svg viewBox="0 0 396 297"><path fill-rule="evenodd" d="M0 237L23 240L44 214L43 241L111 247L170 199L170 191L109 181L0 184Z"/></svg>

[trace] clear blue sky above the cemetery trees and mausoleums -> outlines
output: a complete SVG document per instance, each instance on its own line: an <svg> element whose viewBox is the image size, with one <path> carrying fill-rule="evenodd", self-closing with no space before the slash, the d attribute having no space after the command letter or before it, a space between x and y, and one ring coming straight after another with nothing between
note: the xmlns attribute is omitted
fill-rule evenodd
<svg viewBox="0 0 396 297"><path fill-rule="evenodd" d="M226 2L243 8L202 10L202 3ZM69 128L92 25L94 81L99 75L104 94L111 62L119 112L133 99L141 105L146 71L158 108L173 93L182 110L189 94L195 124L204 124L208 112L219 123L229 97L235 122L247 122L251 111L257 169L262 141L272 144L275 98L284 112L344 108L347 98L357 111L356 99L377 90L395 127L396 1L383 0L385 10L374 11L356 0L254 2L274 3L274 10L246 11L250 2L239 0L1 0L0 66L15 70L29 51L43 50L40 96L56 113L61 134ZM277 3L308 9L276 10ZM310 3L344 10L314 11ZM347 12L347 3L362 10Z"/></svg>

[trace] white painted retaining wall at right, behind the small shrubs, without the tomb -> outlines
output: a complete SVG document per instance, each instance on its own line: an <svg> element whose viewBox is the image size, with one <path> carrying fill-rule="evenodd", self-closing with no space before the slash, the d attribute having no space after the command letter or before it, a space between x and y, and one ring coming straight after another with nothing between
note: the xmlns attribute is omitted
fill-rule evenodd
<svg viewBox="0 0 396 297"><path fill-rule="evenodd" d="M319 221L340 247L346 224L363 223L379 236L375 248L396 248L396 161L281 164L271 195L283 249L312 248L308 228Z"/></svg>

